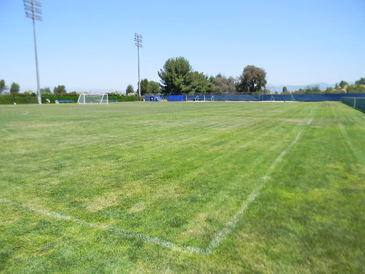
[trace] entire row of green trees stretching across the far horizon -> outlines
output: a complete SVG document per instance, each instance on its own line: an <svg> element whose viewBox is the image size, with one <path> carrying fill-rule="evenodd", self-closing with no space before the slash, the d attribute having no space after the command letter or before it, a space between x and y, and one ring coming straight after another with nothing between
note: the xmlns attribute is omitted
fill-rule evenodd
<svg viewBox="0 0 365 274"><path fill-rule="evenodd" d="M140 82L141 95L145 94L174 94L174 95L188 95L194 93L210 93L210 94L272 94L266 87L266 71L257 66L245 66L242 74L238 77L226 77L221 73L216 76L208 77L204 73L194 71L189 61L184 57L168 59L163 68L158 71L160 83L142 79ZM138 85L137 85L138 86ZM10 88L5 85L5 81L0 80L0 93L9 90L10 93L17 93L20 86L12 83ZM50 88L41 88L42 95L60 95L66 94L66 88L63 85L56 86L51 91ZM334 88L326 88L320 90L317 85L307 86L306 88L299 88L299 90L288 90L284 86L281 94L318 94L318 93L360 93L365 92L365 77L357 80L355 84L348 84L342 80L336 84ZM36 96L36 92L26 90L27 95ZM71 92L75 95L79 93L88 92ZM279 94L279 92L275 92ZM134 87L129 84L123 92L110 92L110 95L115 96L138 96Z"/></svg>

